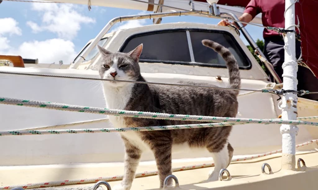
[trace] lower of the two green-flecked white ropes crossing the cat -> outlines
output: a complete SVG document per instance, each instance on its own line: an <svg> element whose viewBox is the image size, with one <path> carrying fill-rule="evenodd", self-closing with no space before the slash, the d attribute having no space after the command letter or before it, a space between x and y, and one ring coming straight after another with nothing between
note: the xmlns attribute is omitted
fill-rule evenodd
<svg viewBox="0 0 318 190"><path fill-rule="evenodd" d="M189 125L168 125L168 126L153 126L153 127L128 127L128 128L15 130L15 131L0 131L0 136L41 135L41 134L114 133L114 132L134 132L134 131L160 131L160 130L173 130L173 129L224 127L224 126L238 125L238 124L244 124L244 123L221 122L221 123L204 123L204 124L189 124Z"/></svg>

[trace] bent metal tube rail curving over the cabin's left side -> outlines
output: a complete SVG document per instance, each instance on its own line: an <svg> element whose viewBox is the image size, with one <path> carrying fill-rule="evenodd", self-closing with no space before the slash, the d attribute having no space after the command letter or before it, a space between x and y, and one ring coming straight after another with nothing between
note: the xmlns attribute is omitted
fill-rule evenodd
<svg viewBox="0 0 318 190"><path fill-rule="evenodd" d="M71 69L76 69L79 64L84 61L84 58L92 51L92 49L97 45L100 39L109 31L109 29L118 22L128 21L128 20L137 20L137 19L151 19L151 18L160 18L165 16L181 16L181 15L194 15L199 14L195 12L189 11L178 11L178 12L164 12L164 13L152 13L152 14L143 14L143 15L131 15L131 16L119 16L110 20L104 28L97 34L94 40L87 46L87 48L83 51L81 56L78 56L76 60L70 65Z"/></svg>

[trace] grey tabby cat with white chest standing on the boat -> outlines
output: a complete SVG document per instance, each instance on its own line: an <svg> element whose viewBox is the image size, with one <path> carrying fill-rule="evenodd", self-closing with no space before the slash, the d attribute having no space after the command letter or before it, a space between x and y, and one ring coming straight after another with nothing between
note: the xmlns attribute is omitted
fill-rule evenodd
<svg viewBox="0 0 318 190"><path fill-rule="evenodd" d="M232 53L216 42L203 40L202 43L223 57L229 70L228 87L239 89L241 84L239 66ZM145 81L138 64L142 48L143 45L140 44L129 53L112 53L98 46L102 56L102 64L99 67L100 77L103 79ZM210 85L193 82L183 82L183 84ZM238 112L238 90L115 81L103 82L103 90L107 106L110 109L219 117L235 117ZM109 120L114 127L121 128L198 123L195 121L156 120L111 115ZM131 188L141 154L147 149L150 149L155 156L160 188L162 188L163 180L172 173L171 151L173 145L207 148L215 163L208 181L218 180L220 169L226 168L233 156L233 148L228 142L231 129L232 126L226 126L120 133L125 145L124 178L120 185L112 189L129 190ZM169 183L171 182L169 181Z"/></svg>

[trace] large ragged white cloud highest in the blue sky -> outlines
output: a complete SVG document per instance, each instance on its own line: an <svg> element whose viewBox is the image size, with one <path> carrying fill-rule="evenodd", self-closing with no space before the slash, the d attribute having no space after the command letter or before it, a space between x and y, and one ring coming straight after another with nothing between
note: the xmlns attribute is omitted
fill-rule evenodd
<svg viewBox="0 0 318 190"><path fill-rule="evenodd" d="M57 33L59 38L73 39L81 24L95 23L93 18L78 12L77 7L72 4L32 3L32 9L39 12L42 23L28 21L27 25L34 33L48 30Z"/></svg>

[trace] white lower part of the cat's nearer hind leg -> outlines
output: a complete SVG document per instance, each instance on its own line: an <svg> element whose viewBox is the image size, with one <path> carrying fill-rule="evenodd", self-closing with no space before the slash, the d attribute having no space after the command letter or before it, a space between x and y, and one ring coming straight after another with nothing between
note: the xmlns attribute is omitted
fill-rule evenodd
<svg viewBox="0 0 318 190"><path fill-rule="evenodd" d="M214 170L211 170L209 173L208 181L218 180L218 174L221 169L226 168L229 164L229 151L227 149L228 143L222 148L218 153L212 153L212 158L214 161Z"/></svg>

